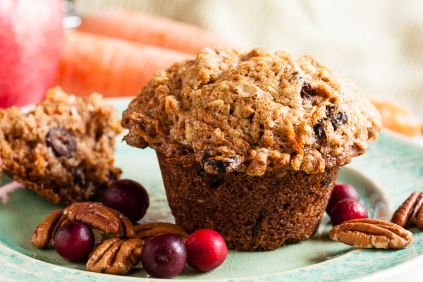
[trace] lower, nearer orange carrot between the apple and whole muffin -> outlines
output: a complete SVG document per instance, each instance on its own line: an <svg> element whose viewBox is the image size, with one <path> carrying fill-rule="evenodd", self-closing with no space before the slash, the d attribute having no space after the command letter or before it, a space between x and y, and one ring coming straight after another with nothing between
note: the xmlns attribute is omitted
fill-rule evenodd
<svg viewBox="0 0 423 282"><path fill-rule="evenodd" d="M180 51L113 37L69 32L54 85L77 95L135 96L156 71L192 59Z"/></svg>

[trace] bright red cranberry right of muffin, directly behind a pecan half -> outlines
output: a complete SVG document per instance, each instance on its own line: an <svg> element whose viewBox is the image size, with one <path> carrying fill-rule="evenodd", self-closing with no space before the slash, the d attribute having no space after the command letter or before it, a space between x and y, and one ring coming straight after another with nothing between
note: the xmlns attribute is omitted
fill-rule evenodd
<svg viewBox="0 0 423 282"><path fill-rule="evenodd" d="M367 219L368 217L366 208L353 199L339 201L331 212L332 226L337 226L351 219Z"/></svg>

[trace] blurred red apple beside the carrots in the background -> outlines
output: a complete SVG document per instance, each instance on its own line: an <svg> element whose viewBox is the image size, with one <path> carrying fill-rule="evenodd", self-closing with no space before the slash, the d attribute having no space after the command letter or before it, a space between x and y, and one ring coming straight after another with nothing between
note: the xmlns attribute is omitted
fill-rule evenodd
<svg viewBox="0 0 423 282"><path fill-rule="evenodd" d="M0 107L44 98L59 66L62 19L61 0L0 1Z"/></svg>

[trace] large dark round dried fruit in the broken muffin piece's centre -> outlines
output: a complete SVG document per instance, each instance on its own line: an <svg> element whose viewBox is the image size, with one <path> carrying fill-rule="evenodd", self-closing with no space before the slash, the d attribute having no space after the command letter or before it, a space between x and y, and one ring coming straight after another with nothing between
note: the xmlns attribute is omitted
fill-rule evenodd
<svg viewBox="0 0 423 282"><path fill-rule="evenodd" d="M71 133L63 128L51 128L47 135L47 142L59 157L70 157L75 151L75 140Z"/></svg>

